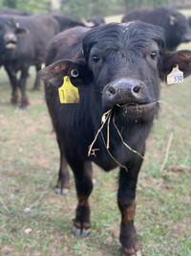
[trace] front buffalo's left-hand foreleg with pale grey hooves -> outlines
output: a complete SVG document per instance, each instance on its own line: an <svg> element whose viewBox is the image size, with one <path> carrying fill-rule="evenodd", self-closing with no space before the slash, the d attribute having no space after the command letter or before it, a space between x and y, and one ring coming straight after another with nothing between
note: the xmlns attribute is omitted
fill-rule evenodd
<svg viewBox="0 0 191 256"><path fill-rule="evenodd" d="M92 164L74 160L70 164L74 172L75 188L78 204L75 210L74 236L81 235L83 238L90 233L90 206L89 196L93 191Z"/></svg>

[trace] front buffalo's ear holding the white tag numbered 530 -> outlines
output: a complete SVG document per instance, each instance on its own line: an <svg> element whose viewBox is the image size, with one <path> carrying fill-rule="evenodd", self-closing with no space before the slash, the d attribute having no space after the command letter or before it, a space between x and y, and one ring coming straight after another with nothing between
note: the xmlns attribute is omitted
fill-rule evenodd
<svg viewBox="0 0 191 256"><path fill-rule="evenodd" d="M167 76L171 73L173 67L179 65L180 71L183 72L183 77L191 75L191 51L182 50L175 53L164 55L162 65L159 70L159 77L162 81L167 80Z"/></svg>

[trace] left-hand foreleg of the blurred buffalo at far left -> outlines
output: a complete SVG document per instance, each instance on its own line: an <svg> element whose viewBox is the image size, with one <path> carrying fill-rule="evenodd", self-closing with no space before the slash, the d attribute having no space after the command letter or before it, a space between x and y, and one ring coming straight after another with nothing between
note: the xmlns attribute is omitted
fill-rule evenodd
<svg viewBox="0 0 191 256"><path fill-rule="evenodd" d="M12 70L10 67L5 66L5 68L11 81L11 104L16 105L18 103L18 80L16 78L16 72Z"/></svg>

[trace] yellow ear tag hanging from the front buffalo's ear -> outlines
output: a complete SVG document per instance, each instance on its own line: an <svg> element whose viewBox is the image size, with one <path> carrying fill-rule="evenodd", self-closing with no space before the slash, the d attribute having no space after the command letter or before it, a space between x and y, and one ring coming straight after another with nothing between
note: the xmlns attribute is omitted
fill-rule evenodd
<svg viewBox="0 0 191 256"><path fill-rule="evenodd" d="M64 77L62 86L58 88L58 94L61 104L79 103L78 89L71 83L68 76Z"/></svg>

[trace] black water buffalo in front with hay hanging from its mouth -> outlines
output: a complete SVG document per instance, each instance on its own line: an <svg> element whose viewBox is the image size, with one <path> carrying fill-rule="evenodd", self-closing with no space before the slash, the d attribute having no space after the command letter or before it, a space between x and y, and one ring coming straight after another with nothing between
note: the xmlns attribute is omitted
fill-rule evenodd
<svg viewBox="0 0 191 256"><path fill-rule="evenodd" d="M47 67L39 72L60 149L60 168L69 164L74 172L74 235L90 233L91 162L106 172L119 166L119 241L125 255L141 255L134 226L136 186L145 140L159 112L159 79L165 81L176 64L184 76L191 74L191 52L165 54L164 45L160 27L138 21L89 31L76 27L60 35L57 45L52 40ZM63 79L61 97L66 103L61 104L58 87ZM75 97L66 97L69 94Z"/></svg>

